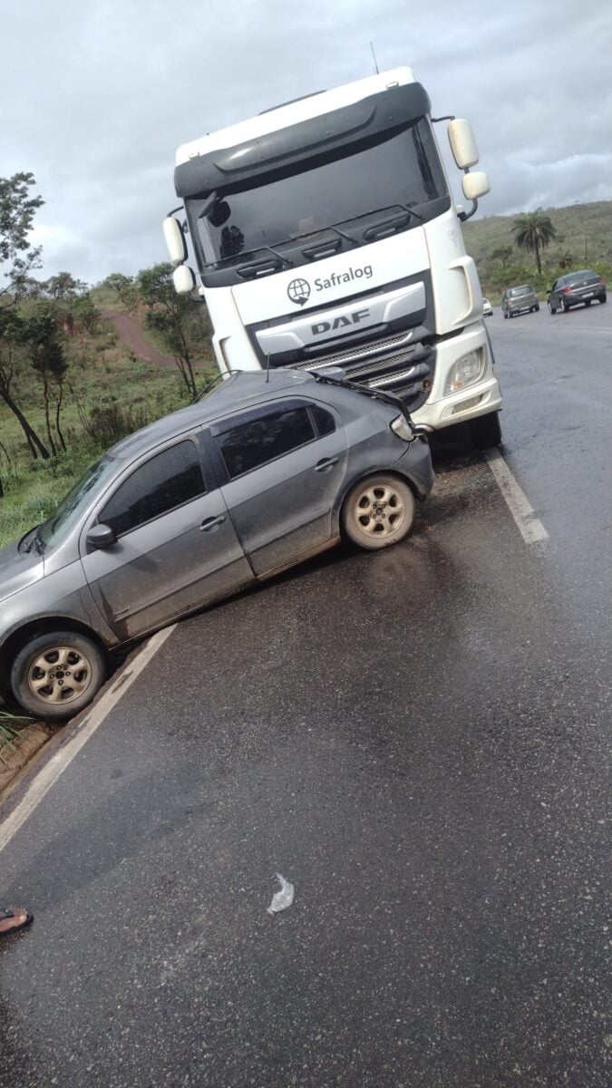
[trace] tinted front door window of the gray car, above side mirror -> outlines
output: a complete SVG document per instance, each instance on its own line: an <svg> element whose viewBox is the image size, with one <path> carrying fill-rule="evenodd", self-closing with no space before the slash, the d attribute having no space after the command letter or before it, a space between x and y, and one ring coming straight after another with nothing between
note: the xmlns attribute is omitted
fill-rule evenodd
<svg viewBox="0 0 612 1088"><path fill-rule="evenodd" d="M98 521L122 536L205 493L195 443L179 442L150 457L120 484Z"/></svg>

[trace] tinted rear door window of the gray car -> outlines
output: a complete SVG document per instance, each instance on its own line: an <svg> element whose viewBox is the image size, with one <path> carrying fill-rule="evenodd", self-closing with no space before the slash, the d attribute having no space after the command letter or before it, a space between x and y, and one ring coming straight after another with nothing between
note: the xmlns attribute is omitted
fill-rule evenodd
<svg viewBox="0 0 612 1088"><path fill-rule="evenodd" d="M230 480L250 472L292 449L313 442L317 435L308 408L285 406L253 416L217 433Z"/></svg>

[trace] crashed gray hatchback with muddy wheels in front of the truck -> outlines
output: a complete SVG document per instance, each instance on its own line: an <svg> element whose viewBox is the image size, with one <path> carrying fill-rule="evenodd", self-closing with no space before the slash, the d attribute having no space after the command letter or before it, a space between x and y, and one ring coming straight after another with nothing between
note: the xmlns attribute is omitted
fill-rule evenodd
<svg viewBox="0 0 612 1088"><path fill-rule="evenodd" d="M107 652L331 547L403 540L433 485L401 404L342 378L234 374L114 446L0 551L0 683L75 714Z"/></svg>

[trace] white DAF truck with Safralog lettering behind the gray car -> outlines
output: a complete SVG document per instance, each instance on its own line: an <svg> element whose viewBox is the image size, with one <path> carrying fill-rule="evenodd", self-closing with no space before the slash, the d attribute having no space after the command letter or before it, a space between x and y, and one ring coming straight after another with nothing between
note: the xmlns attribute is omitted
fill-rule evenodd
<svg viewBox="0 0 612 1088"><path fill-rule="evenodd" d="M460 221L489 191L466 121L448 121L455 206L425 88L399 67L182 145L163 223L176 290L194 292L186 233L223 373L340 367L438 431L501 441L476 265ZM181 217L182 218L182 217Z"/></svg>

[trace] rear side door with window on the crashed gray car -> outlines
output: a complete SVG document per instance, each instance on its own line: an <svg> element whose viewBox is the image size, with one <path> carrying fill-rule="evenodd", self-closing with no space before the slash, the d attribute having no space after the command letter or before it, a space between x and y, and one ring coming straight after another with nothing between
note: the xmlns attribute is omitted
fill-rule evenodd
<svg viewBox="0 0 612 1088"><path fill-rule="evenodd" d="M257 576L332 540L332 508L348 459L334 410L277 400L213 425L211 440L228 474L223 498Z"/></svg>

